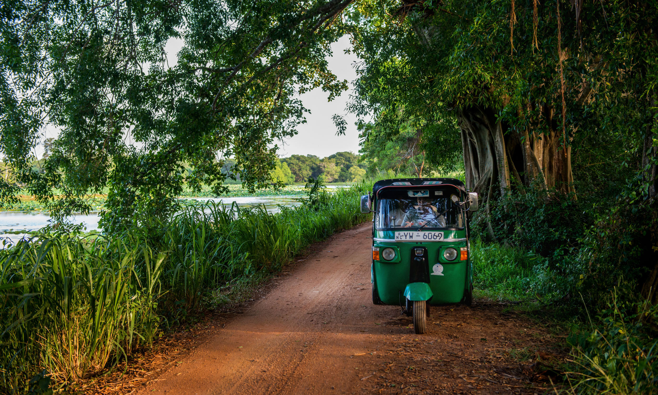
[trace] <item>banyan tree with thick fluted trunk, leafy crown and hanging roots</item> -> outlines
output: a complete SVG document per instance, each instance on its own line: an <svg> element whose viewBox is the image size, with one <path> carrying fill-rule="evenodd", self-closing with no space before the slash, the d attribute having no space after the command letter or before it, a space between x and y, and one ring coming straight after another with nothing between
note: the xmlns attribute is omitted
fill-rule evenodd
<svg viewBox="0 0 658 395"><path fill-rule="evenodd" d="M574 146L615 128L651 141L656 93L642 80L653 62L642 52L642 37L656 42L656 32L651 18L633 17L646 5L403 0L389 6L376 27L355 29L367 65L360 70L360 104L368 101L382 125L391 122L387 111L401 105L409 118L455 118L470 190L493 198L534 184L576 199ZM376 8L361 11L372 17ZM602 115L619 101L632 101L636 111Z"/></svg>

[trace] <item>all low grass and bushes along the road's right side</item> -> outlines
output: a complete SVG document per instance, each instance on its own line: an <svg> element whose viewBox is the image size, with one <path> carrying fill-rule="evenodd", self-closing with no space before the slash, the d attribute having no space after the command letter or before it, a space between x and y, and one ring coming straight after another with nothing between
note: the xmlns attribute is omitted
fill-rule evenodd
<svg viewBox="0 0 658 395"><path fill-rule="evenodd" d="M501 198L491 228L486 211L478 214L476 296L517 303L568 334L570 355L557 367L564 392L655 394L658 308L642 293L646 269L632 264L651 248L655 216L642 204L544 196L528 189Z"/></svg>

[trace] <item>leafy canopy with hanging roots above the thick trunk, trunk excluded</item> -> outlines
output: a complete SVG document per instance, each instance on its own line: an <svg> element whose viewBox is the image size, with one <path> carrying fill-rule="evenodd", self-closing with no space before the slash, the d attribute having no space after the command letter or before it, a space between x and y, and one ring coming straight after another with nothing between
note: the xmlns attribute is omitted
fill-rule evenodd
<svg viewBox="0 0 658 395"><path fill-rule="evenodd" d="M346 14L363 59L351 111L375 119L364 138L384 146L411 122L481 107L506 139L557 131L576 182L649 166L638 157L658 130L657 2L363 0ZM439 136L445 155L461 146L456 129Z"/></svg>

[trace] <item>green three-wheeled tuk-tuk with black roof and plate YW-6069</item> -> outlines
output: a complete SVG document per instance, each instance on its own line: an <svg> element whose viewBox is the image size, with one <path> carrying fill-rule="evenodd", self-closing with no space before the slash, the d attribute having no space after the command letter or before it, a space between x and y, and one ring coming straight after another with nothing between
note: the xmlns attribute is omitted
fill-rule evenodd
<svg viewBox="0 0 658 395"><path fill-rule="evenodd" d="M372 303L401 305L416 333L429 305L472 302L468 243L478 195L455 178L395 178L361 197L372 219Z"/></svg>

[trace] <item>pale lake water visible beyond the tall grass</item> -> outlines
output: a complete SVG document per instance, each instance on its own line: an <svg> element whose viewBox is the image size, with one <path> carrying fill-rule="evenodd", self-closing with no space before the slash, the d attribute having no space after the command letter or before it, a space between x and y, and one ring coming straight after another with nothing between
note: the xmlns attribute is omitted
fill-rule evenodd
<svg viewBox="0 0 658 395"><path fill-rule="evenodd" d="M246 196L241 198L188 198L197 201L216 201L224 206L230 206L234 202L239 206L265 205L265 209L272 213L279 211L278 205L297 206L301 203L295 199L302 196ZM75 224L84 224L87 230L98 229L98 213L89 215L73 215L71 218ZM38 212L3 211L0 212L0 238L10 238L13 242L26 236L25 234L6 234L7 230L39 230L49 224L50 215Z"/></svg>

